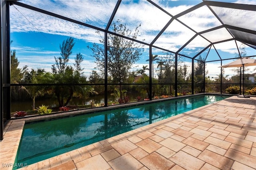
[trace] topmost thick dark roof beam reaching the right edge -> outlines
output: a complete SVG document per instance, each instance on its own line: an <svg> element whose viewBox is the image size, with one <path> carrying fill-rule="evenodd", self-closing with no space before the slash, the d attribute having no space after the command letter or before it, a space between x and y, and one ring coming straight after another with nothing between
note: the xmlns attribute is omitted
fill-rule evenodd
<svg viewBox="0 0 256 170"><path fill-rule="evenodd" d="M218 6L222 8L233 8L238 10L246 10L246 11L256 11L255 5L249 5L249 4L235 4L230 2L216 2L216 1L208 1L204 0L206 5L208 6Z"/></svg>

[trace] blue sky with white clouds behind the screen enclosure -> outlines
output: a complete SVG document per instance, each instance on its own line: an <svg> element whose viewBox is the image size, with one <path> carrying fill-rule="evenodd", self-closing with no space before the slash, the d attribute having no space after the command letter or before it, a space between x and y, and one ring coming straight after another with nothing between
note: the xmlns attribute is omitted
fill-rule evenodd
<svg viewBox="0 0 256 170"><path fill-rule="evenodd" d="M35 6L49 12L82 21L84 23L94 25L101 29L105 29L112 11L116 6L116 0L21 0L24 4ZM200 0L154 0L154 3L161 6L164 10L169 12L172 16L191 8L192 6L201 3ZM254 0L228 0L222 2L254 4ZM219 7L212 7L212 9L220 16L220 18L230 25L239 25L246 29L256 31L256 12L247 12L244 10L234 9L220 9ZM232 13L230 18L227 14ZM228 18L228 17L229 18ZM139 28L139 41L151 43L156 35L162 30L164 25L170 21L171 16L165 14L158 8L154 7L148 1L140 0L123 0L118 8L114 20L120 20L121 23L126 24L127 28L134 30L136 26L141 24ZM221 25L220 21L216 19L214 14L208 7L203 6L185 14L178 18L179 21L191 27L194 31L200 32ZM181 22L177 20L166 28L164 33L156 40L155 46L168 49L176 52L188 40L190 40L195 32L191 31ZM44 68L51 71L52 64L55 63L54 57L60 56L60 44L68 37L74 38L74 48L72 55L70 55L70 64L74 64L74 58L77 53L81 53L84 57L82 67L84 74L89 77L92 70L95 69L96 64L92 57L92 51L88 48L92 47L93 43L99 43L99 40L104 37L104 33L100 35L96 33L95 29L78 25L69 21L64 21L52 16L34 12L17 5L10 7L10 30L11 30L11 50L16 51L16 57L20 62L20 67L27 65L29 69ZM230 39L232 36L224 28L217 29L208 33L202 34L211 42L222 41ZM101 37L102 36L102 37ZM189 57L194 57L199 51L207 47L210 42L206 39L197 36L192 40L182 51L181 54ZM241 45L236 41L238 47ZM220 59L234 58L238 51L235 41L228 41L208 48L201 55L204 58L207 54L206 61L214 61ZM245 46L247 52L246 56L256 55L256 50ZM218 54L214 50L218 51ZM164 55L162 50L152 48L152 54L161 57ZM142 66L148 65L149 48L144 46L144 53L140 56L140 60L133 65L133 70L141 69ZM233 60L223 61L222 64L229 63ZM186 59L184 62L191 70L191 61ZM154 63L154 67L157 64ZM149 66L148 66L149 67ZM220 61L206 64L208 76L217 77L220 74ZM253 67L248 73L253 73ZM156 71L154 71L156 74ZM233 75L232 68L225 68L226 75ZM156 75L155 75L156 76Z"/></svg>

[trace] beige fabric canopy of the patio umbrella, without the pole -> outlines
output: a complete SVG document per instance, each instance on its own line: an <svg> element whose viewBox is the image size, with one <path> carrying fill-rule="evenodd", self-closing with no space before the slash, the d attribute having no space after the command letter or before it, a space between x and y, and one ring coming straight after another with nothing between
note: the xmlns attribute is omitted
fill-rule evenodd
<svg viewBox="0 0 256 170"><path fill-rule="evenodd" d="M236 61L225 64L221 67L227 68L227 67L242 67L242 66L256 66L256 60L250 59L249 57L240 58L240 59L237 59Z"/></svg>

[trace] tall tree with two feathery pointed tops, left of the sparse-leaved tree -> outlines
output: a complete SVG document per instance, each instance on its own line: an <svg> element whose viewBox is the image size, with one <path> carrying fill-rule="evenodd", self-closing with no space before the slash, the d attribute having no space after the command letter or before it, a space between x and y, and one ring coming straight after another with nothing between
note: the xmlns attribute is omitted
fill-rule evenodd
<svg viewBox="0 0 256 170"><path fill-rule="evenodd" d="M74 47L74 38L69 37L60 45L60 57L54 57L55 64L52 65L52 73L55 84L78 84L84 83L86 77L82 76L81 63L83 57L80 53L76 54L74 68L68 65L69 57ZM76 96L76 91L81 87L75 85L58 85L54 87L54 93L57 97L59 106L67 106L72 96Z"/></svg>

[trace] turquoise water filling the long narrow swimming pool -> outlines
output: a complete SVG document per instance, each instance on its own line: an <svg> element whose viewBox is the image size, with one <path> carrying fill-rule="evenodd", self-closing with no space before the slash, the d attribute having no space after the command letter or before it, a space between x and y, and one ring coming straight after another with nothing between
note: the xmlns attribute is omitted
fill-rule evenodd
<svg viewBox="0 0 256 170"><path fill-rule="evenodd" d="M224 98L193 96L25 124L16 162L33 164Z"/></svg>

